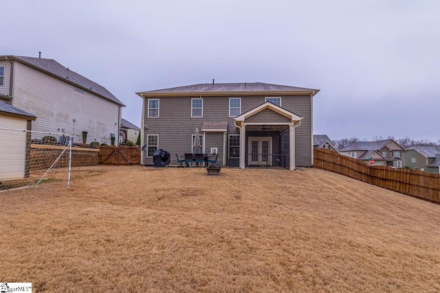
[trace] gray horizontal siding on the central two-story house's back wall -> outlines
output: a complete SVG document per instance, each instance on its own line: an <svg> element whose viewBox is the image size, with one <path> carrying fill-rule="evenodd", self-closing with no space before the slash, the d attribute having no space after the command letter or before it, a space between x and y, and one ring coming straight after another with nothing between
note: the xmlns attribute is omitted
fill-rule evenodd
<svg viewBox="0 0 440 293"><path fill-rule="evenodd" d="M280 95L274 96L280 97ZM226 121L228 122L228 135L239 134L234 125L234 118L229 117L230 97L232 96L203 97L203 117L200 118L191 118L191 98L199 98L199 96L159 97L159 118L148 118L148 108L145 108L144 121L148 129L143 130L144 139L147 134L159 134L159 148L170 152L171 164L177 164L175 154L183 155L185 152L191 152L191 136L194 134L195 128L201 130L203 122ZM263 104L266 96L236 97L241 97L241 113L245 113ZM312 165L311 97L310 95L281 96L281 101L283 108L304 117L301 125L295 130L296 165L309 167ZM147 106L145 105L145 107ZM226 152L228 152L228 143L227 137ZM209 152L208 148L205 150ZM146 164L150 164L150 162L151 159L146 160ZM229 165L228 153L226 153L226 165Z"/></svg>

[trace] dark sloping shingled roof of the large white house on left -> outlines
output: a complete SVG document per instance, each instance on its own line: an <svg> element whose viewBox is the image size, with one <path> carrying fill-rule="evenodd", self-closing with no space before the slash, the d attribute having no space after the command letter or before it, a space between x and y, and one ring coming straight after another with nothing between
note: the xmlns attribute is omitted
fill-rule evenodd
<svg viewBox="0 0 440 293"><path fill-rule="evenodd" d="M118 104L120 106L124 106L120 100L111 94L104 86L97 84L96 82L92 82L91 80L85 78L83 75L76 73L75 71L70 70L68 67L64 67L60 63L56 62L53 59L45 59L45 58L34 58L34 57L25 57L25 56L0 56L0 58L8 58L9 60L17 60L25 65L28 65L34 69L47 73L49 75L54 76L64 82L68 82L69 84L73 84L74 86L78 86L78 88L88 91L90 93L94 93L95 95L99 95L104 99L108 99L109 101Z"/></svg>

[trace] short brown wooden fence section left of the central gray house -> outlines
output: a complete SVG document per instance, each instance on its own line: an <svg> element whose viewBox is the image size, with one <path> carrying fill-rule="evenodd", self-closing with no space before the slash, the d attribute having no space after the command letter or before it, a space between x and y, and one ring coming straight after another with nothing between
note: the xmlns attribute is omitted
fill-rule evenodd
<svg viewBox="0 0 440 293"><path fill-rule="evenodd" d="M140 165L140 149L126 145L106 145L99 148L99 163L111 165Z"/></svg>

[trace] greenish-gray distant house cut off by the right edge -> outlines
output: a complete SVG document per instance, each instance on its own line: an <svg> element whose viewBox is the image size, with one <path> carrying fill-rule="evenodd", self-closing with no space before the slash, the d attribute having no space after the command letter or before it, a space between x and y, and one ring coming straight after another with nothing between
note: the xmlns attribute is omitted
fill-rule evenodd
<svg viewBox="0 0 440 293"><path fill-rule="evenodd" d="M440 145L415 145L405 150L405 166L440 173Z"/></svg>

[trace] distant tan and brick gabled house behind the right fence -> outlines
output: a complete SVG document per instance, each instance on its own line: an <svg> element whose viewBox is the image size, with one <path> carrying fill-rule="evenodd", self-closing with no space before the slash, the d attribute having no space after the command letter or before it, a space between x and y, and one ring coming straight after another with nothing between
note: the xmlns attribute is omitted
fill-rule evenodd
<svg viewBox="0 0 440 293"><path fill-rule="evenodd" d="M405 150L393 139L358 141L339 150L340 154L362 161L373 159L375 166L404 167Z"/></svg>

